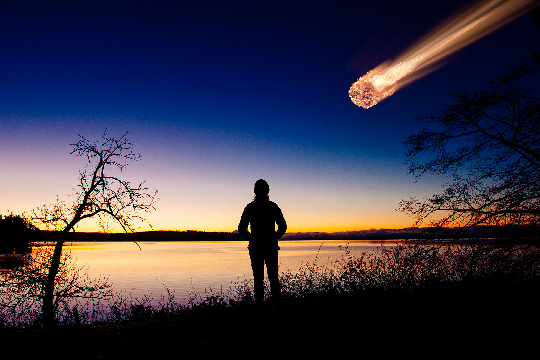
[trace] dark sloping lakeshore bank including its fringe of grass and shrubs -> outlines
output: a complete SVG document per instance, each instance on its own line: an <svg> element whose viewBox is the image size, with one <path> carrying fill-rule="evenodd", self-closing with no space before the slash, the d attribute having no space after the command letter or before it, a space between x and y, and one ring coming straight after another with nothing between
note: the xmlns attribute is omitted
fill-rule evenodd
<svg viewBox="0 0 540 360"><path fill-rule="evenodd" d="M10 327L8 314L1 338L13 349L56 339L48 348L53 354L81 357L82 346L89 358L261 343L294 344L299 352L361 344L368 354L429 357L516 355L536 346L537 246L396 245L359 256L350 250L343 247L337 262L284 271L278 304L268 299L257 306L249 281L182 301L169 290L158 306L129 296L79 299L77 314L60 307L51 329L40 328L36 307L22 328Z"/></svg>

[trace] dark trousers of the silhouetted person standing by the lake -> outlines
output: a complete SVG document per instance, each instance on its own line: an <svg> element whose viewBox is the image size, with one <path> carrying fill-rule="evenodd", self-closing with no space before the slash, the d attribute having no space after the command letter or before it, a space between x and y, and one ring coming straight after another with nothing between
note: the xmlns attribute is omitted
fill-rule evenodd
<svg viewBox="0 0 540 360"><path fill-rule="evenodd" d="M277 241L275 244L268 244L266 246L253 246L250 242L248 250L251 268L253 270L253 292L255 293L255 300L257 302L264 301L265 263L268 281L270 281L270 288L272 289L272 297L274 300L279 300L281 293L278 269L279 246Z"/></svg>

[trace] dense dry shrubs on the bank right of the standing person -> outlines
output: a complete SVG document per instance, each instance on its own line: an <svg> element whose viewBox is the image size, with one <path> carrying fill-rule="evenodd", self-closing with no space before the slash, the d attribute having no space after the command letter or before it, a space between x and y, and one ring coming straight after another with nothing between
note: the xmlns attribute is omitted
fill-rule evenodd
<svg viewBox="0 0 540 360"><path fill-rule="evenodd" d="M492 243L427 246L382 246L375 253L354 255L354 248L340 246L344 254L335 262L306 263L281 276L284 295L355 293L366 290L417 290L450 282L478 279L510 281L538 279L537 245L501 246Z"/></svg>

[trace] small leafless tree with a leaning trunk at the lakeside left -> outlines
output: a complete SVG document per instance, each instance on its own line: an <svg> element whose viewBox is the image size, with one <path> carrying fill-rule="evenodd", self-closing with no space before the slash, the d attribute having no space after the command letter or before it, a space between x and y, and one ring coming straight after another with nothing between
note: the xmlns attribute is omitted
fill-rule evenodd
<svg viewBox="0 0 540 360"><path fill-rule="evenodd" d="M32 211L32 220L58 230L55 249L44 284L43 323L51 325L55 316L53 293L55 278L60 265L60 255L66 235L75 231L81 220L97 217L99 226L106 232L112 223L119 224L124 231L133 232L133 220L148 223L145 214L154 209L157 200L157 188L144 186L144 181L133 186L130 182L113 175L129 165L130 160L140 160L140 154L134 153L133 143L126 139L128 131L120 138L107 135L107 129L98 141L90 141L79 135L80 140L73 146L71 154L84 157L89 162L79 172L79 184L73 188L76 200L65 202L57 198L56 203L44 205Z"/></svg>

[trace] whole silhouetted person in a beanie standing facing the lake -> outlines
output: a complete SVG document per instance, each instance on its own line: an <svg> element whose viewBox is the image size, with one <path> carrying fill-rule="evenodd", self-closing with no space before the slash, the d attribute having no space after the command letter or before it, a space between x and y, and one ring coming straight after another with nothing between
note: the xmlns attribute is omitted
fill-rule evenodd
<svg viewBox="0 0 540 360"><path fill-rule="evenodd" d="M269 200L270 187L262 179L255 182L254 201L247 204L238 225L238 232L249 240L249 259L253 269L253 291L258 303L264 299L263 279L266 271L272 289L272 297L279 300L278 239L285 234L287 223L275 202ZM251 233L247 225L251 225ZM278 224L278 231L275 225Z"/></svg>

